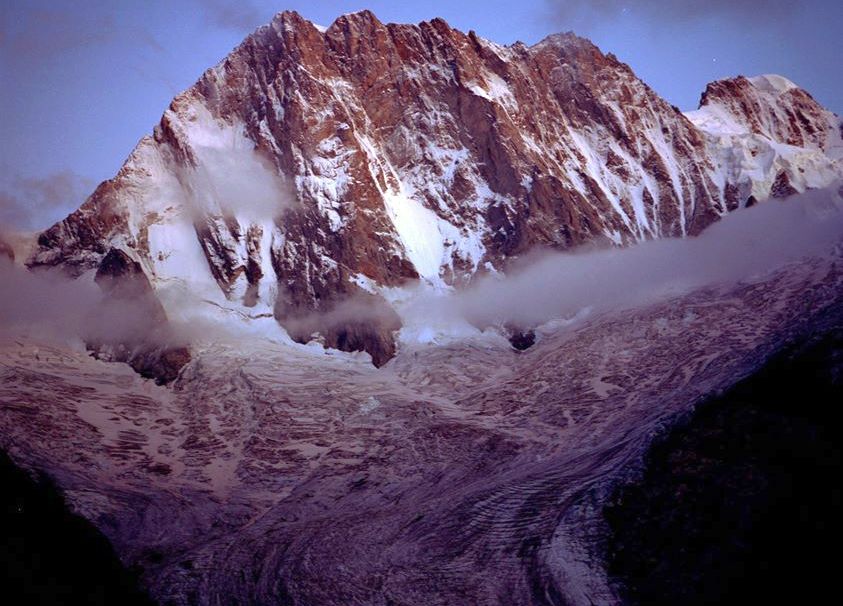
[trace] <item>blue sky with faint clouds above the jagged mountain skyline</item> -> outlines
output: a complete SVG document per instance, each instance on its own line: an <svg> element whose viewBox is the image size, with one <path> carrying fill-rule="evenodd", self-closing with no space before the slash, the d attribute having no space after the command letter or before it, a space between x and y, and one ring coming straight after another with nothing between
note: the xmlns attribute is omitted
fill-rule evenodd
<svg viewBox="0 0 843 606"><path fill-rule="evenodd" d="M362 8L504 44L572 29L682 109L711 80L772 72L843 113L841 0L3 0L0 227L77 207L175 94L276 12L329 25Z"/></svg>

